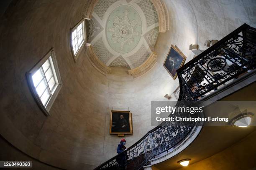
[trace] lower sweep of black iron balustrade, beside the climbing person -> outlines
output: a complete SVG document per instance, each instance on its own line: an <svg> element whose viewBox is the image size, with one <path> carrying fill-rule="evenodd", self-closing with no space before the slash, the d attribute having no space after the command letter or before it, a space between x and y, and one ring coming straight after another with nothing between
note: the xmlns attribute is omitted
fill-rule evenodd
<svg viewBox="0 0 256 170"><path fill-rule="evenodd" d="M182 113L176 113L182 114ZM180 115L181 116L181 115ZM123 153L116 155L103 163L95 170L117 170L118 157L127 154L126 169L139 170L154 156L166 152L180 143L195 126L195 122L182 124L181 122L163 122L161 125L150 130L137 143Z"/></svg>

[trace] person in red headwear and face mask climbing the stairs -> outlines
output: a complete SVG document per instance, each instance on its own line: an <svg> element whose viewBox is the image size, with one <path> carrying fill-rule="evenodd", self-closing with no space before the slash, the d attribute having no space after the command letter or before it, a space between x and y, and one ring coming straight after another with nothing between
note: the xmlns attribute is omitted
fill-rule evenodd
<svg viewBox="0 0 256 170"><path fill-rule="evenodd" d="M118 170L125 170L126 169L125 163L126 163L126 160L128 159L128 155L125 152L125 150L126 150L125 143L126 143L126 140L121 139L120 144L118 144L118 148L117 148Z"/></svg>

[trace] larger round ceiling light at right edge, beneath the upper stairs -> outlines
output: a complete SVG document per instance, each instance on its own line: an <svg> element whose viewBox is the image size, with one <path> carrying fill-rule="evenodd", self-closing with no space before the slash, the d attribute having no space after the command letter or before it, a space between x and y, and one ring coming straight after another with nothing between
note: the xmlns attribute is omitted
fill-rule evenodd
<svg viewBox="0 0 256 170"><path fill-rule="evenodd" d="M231 120L231 125L245 128L251 124L253 115L251 112L240 114Z"/></svg>

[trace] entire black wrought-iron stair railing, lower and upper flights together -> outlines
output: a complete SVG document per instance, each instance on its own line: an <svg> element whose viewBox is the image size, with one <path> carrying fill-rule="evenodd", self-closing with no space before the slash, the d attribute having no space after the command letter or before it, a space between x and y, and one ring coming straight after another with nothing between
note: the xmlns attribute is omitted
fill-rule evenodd
<svg viewBox="0 0 256 170"><path fill-rule="evenodd" d="M177 106L185 101L203 100L256 67L256 29L243 24L177 70L180 84ZM182 113L175 113L183 116ZM121 154L127 154L126 169L139 170L157 155L183 141L195 122L162 122ZM115 170L119 155L95 170Z"/></svg>

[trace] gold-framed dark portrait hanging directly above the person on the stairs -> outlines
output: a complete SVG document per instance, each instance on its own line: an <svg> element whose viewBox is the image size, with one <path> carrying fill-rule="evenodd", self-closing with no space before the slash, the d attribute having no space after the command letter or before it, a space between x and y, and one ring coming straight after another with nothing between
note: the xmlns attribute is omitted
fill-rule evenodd
<svg viewBox="0 0 256 170"><path fill-rule="evenodd" d="M110 134L133 134L132 114L130 111L111 110Z"/></svg>

